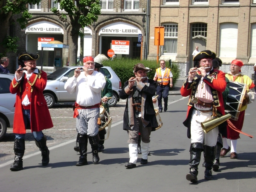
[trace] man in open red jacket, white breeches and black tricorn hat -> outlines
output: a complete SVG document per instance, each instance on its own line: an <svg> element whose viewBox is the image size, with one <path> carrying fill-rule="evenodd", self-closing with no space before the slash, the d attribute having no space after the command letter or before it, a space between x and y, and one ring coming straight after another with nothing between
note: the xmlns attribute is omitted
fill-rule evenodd
<svg viewBox="0 0 256 192"><path fill-rule="evenodd" d="M212 165L215 159L215 145L218 132L225 125L219 125L207 134L201 126L201 122L207 121L214 115L224 115L222 92L226 88L225 73L212 68L212 59L216 57L214 52L204 50L193 59L197 66L189 70L189 77L180 89L182 96L190 96L186 120L183 124L188 128L187 137L191 138L190 145L190 171L186 179L196 183L198 165L201 152L205 151L205 179L212 179ZM203 142L205 147L203 148Z"/></svg>

